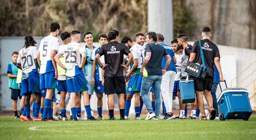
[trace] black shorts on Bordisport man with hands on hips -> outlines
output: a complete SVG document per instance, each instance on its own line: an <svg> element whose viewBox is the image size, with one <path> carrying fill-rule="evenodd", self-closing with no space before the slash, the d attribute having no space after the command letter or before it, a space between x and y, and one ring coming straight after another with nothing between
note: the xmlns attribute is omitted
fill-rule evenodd
<svg viewBox="0 0 256 140"><path fill-rule="evenodd" d="M104 77L105 94L125 93L125 77Z"/></svg>

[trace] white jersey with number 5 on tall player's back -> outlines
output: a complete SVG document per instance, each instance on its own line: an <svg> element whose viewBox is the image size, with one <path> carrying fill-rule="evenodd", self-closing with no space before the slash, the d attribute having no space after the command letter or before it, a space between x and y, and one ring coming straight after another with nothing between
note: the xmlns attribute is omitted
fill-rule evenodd
<svg viewBox="0 0 256 140"><path fill-rule="evenodd" d="M52 64L52 50L58 51L59 39L48 35L41 40L38 52L40 52L40 73L55 71Z"/></svg>

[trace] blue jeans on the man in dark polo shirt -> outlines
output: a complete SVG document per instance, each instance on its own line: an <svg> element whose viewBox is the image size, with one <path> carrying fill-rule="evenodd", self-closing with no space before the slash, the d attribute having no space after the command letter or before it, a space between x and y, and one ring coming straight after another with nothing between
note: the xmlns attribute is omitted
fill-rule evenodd
<svg viewBox="0 0 256 140"><path fill-rule="evenodd" d="M148 112L153 112L151 102L148 97L149 88L153 85L154 97L155 97L155 117L158 117L161 106L160 88L162 83L162 76L150 75L148 77L143 76L141 82L140 96L147 107Z"/></svg>

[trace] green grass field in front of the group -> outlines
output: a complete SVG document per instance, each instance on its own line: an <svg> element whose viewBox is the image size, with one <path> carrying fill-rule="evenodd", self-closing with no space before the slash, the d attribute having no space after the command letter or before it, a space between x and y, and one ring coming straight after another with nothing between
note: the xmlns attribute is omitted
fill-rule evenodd
<svg viewBox="0 0 256 140"><path fill-rule="evenodd" d="M249 121L105 120L24 122L0 118L0 139L256 139L256 115ZM116 115L119 118L118 115ZM132 116L131 116L132 118ZM141 115L145 119L146 115Z"/></svg>

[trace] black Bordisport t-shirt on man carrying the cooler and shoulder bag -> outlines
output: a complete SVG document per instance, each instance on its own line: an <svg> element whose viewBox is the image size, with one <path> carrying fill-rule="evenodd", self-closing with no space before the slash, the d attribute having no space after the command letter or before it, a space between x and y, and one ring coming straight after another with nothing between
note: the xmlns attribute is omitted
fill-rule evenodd
<svg viewBox="0 0 256 140"><path fill-rule="evenodd" d="M201 40L201 48L204 53L204 63L206 68L208 68L206 75L214 76L214 58L219 57L220 58L220 52L218 47L212 43L208 39ZM199 48L199 41L196 41L193 45L192 51L196 53L196 57L194 60L194 63L198 63L200 65L203 64L200 48Z"/></svg>

